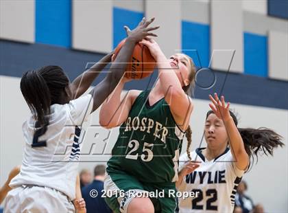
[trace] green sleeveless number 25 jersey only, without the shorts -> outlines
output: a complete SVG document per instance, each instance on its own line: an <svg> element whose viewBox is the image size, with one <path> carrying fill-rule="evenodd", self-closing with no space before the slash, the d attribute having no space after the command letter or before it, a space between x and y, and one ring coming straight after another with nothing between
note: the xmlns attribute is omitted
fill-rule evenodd
<svg viewBox="0 0 288 213"><path fill-rule="evenodd" d="M149 106L148 95L149 90L139 94L121 125L107 172L120 170L142 182L171 183L178 179L184 133L165 99Z"/></svg>

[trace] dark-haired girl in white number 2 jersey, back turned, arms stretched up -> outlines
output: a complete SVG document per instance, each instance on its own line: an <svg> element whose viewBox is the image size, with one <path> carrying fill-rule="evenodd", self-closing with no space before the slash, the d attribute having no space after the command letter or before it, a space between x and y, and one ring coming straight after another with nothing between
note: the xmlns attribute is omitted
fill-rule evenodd
<svg viewBox="0 0 288 213"><path fill-rule="evenodd" d="M82 123L115 89L136 43L146 36L156 36L150 31L158 27L148 27L153 20L143 19L129 33L106 78L85 96L82 94L110 62L112 53L72 83L58 66L23 75L21 92L32 116L23 124L21 172L10 183L14 189L6 198L5 212L74 212L71 200L75 198Z"/></svg>

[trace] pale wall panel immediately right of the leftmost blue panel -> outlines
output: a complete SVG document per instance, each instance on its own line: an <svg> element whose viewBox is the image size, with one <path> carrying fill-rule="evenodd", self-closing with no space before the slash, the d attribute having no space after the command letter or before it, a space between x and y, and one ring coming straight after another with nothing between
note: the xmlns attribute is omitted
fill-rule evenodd
<svg viewBox="0 0 288 213"><path fill-rule="evenodd" d="M73 0L72 46L93 52L112 49L112 0Z"/></svg>

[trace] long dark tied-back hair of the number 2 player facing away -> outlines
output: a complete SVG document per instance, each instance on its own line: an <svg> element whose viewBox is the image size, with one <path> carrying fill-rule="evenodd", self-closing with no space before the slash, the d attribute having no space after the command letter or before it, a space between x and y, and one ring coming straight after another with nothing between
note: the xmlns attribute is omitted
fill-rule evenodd
<svg viewBox="0 0 288 213"><path fill-rule="evenodd" d="M25 72L20 88L29 109L36 119L36 127L47 126L51 104L61 102L62 93L69 85L69 78L61 67L45 66Z"/></svg>

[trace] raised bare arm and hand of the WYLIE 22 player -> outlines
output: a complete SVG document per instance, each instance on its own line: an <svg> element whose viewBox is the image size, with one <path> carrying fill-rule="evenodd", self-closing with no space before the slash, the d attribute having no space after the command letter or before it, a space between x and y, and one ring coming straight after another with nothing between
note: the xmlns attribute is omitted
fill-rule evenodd
<svg viewBox="0 0 288 213"><path fill-rule="evenodd" d="M245 151L243 139L238 131L235 122L230 116L229 106L230 103L226 105L224 96L221 96L221 100L219 100L217 93L213 96L209 96L212 103L209 104L215 115L221 120L223 120L226 132L228 135L228 142L231 147L231 153L233 158L235 159L235 165L239 170L245 170L249 164L249 157Z"/></svg>

